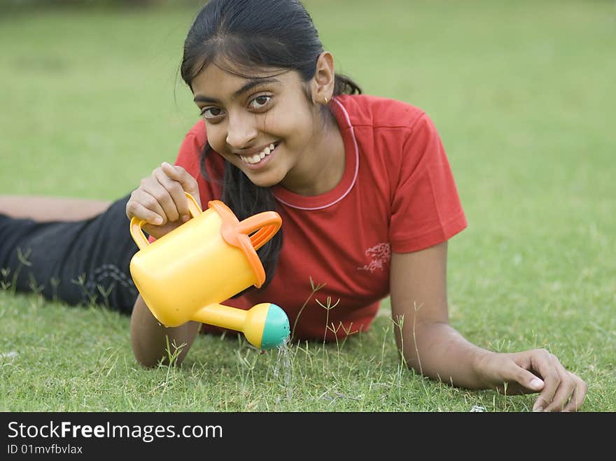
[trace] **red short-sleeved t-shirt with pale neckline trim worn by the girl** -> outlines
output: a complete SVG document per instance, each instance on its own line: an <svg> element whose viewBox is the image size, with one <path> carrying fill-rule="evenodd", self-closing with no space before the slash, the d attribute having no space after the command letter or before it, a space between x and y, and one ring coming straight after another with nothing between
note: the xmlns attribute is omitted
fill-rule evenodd
<svg viewBox="0 0 616 461"><path fill-rule="evenodd" d="M224 303L277 304L297 338L323 339L326 323L328 339L331 329L338 337L365 331L389 293L391 252L434 246L467 225L440 136L423 111L367 95L335 97L331 108L346 151L342 180L311 197L272 187L283 232L274 278ZM197 178L204 208L221 198L221 186L200 173L206 140L200 120L176 159ZM223 157L210 153L206 167L221 178ZM311 283L323 287L311 295Z"/></svg>

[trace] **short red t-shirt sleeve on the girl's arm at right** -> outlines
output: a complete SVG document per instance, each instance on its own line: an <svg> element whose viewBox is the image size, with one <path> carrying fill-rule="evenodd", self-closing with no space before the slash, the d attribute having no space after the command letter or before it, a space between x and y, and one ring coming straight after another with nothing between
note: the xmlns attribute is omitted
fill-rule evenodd
<svg viewBox="0 0 616 461"><path fill-rule="evenodd" d="M402 148L391 209L391 250L410 253L450 239L467 226L442 141L427 115Z"/></svg>

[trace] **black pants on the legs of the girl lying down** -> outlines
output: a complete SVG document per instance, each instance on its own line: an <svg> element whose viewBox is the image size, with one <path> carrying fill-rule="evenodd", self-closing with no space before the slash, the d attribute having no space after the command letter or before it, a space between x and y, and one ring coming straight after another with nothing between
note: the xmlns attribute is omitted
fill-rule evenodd
<svg viewBox="0 0 616 461"><path fill-rule="evenodd" d="M130 313L138 292L129 264L139 248L130 236L125 213L129 198L113 202L94 218L76 222L35 222L0 215L3 287L36 290L66 304L102 304Z"/></svg>

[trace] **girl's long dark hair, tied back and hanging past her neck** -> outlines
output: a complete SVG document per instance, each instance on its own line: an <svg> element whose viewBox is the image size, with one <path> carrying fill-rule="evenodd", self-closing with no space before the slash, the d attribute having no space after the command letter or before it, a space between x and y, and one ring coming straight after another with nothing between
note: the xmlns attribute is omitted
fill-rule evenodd
<svg viewBox="0 0 616 461"><path fill-rule="evenodd" d="M181 75L191 90L193 79L212 63L244 77L250 76L251 69L293 69L307 82L314 77L321 52L318 32L298 0L210 0L184 41ZM334 95L353 93L361 93L360 87L337 74ZM201 172L206 178L205 160L211 150L206 143L201 159ZM276 208L268 187L253 184L229 162L225 162L221 199L239 220ZM258 250L265 268L263 286L272 280L281 247L282 229Z"/></svg>

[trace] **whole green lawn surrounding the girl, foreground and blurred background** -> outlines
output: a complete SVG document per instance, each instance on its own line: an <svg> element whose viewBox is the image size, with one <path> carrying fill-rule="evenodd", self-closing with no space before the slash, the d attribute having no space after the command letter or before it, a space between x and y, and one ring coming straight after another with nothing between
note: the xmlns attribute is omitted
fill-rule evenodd
<svg viewBox="0 0 616 461"><path fill-rule="evenodd" d="M426 110L468 229L451 323L491 350L545 347L616 411L616 4L309 0L337 69ZM0 20L0 193L116 199L173 161L197 118L177 76L197 8L28 10ZM447 11L447 14L443 14ZM144 371L129 319L0 292L5 411L530 411L402 369L388 302L344 344L285 357L201 335Z"/></svg>

